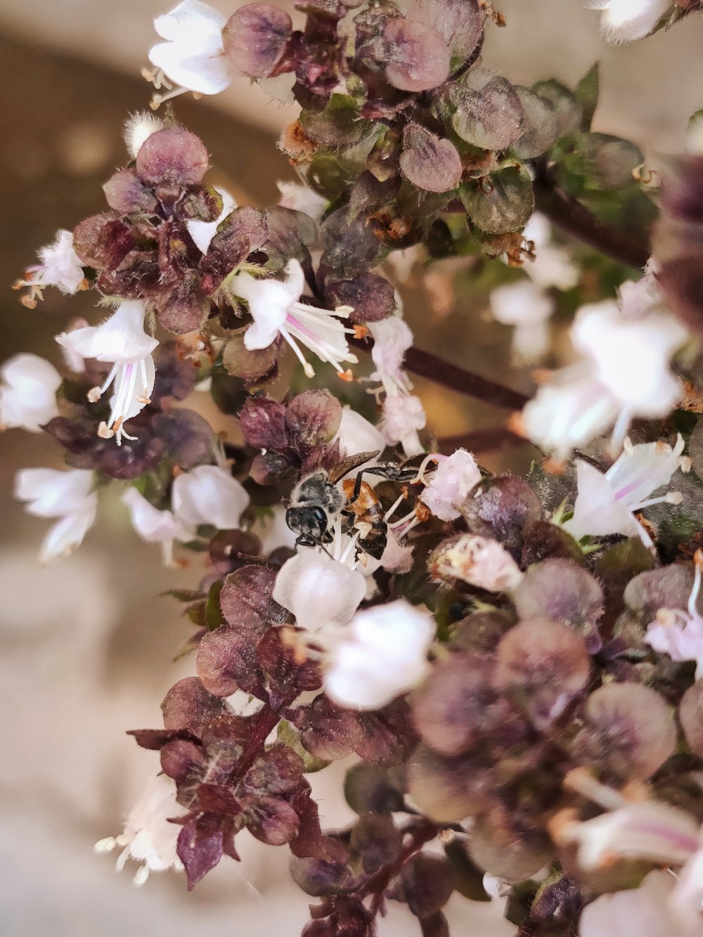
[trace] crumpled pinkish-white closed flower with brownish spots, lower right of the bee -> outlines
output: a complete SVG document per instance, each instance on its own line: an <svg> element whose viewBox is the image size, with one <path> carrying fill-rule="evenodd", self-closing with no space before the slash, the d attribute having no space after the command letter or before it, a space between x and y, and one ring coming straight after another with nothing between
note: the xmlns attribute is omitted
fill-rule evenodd
<svg viewBox="0 0 703 937"><path fill-rule="evenodd" d="M462 579L488 592L514 588L522 578L515 559L501 543L471 533L441 543L428 565L434 578Z"/></svg>

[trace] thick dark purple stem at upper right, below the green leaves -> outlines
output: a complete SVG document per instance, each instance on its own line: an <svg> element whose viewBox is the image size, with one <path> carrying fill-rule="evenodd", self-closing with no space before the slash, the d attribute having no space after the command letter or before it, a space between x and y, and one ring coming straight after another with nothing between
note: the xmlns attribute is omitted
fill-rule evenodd
<svg viewBox="0 0 703 937"><path fill-rule="evenodd" d="M561 231L627 267L641 270L645 266L650 259L648 243L635 241L625 231L619 231L591 215L588 208L549 178L544 165L538 163L536 170L532 187L537 209Z"/></svg>

